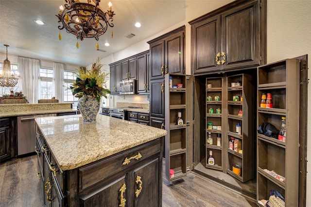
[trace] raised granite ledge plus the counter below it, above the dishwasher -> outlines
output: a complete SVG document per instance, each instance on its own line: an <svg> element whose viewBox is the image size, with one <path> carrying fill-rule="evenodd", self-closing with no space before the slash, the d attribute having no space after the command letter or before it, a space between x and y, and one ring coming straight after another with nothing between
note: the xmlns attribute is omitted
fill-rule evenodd
<svg viewBox="0 0 311 207"><path fill-rule="evenodd" d="M0 104L0 118L77 111L71 108L71 104L72 103Z"/></svg>

